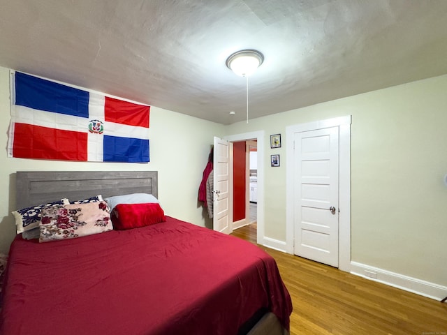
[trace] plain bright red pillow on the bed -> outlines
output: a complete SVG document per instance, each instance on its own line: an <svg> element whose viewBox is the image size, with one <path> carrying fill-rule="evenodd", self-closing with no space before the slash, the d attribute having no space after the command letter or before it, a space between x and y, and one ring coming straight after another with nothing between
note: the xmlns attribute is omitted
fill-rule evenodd
<svg viewBox="0 0 447 335"><path fill-rule="evenodd" d="M166 221L160 204L117 204L110 215L117 230L145 227Z"/></svg>

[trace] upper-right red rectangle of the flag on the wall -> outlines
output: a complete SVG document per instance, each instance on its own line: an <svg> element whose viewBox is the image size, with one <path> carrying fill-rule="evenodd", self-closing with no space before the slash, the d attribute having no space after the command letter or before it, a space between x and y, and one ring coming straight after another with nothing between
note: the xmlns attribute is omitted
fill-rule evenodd
<svg viewBox="0 0 447 335"><path fill-rule="evenodd" d="M149 106L137 105L108 96L104 105L105 121L149 128Z"/></svg>

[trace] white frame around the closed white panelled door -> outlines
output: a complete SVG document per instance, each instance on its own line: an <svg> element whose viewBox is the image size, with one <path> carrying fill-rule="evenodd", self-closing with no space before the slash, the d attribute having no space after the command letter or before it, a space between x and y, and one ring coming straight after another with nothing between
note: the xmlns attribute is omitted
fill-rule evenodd
<svg viewBox="0 0 447 335"><path fill-rule="evenodd" d="M351 271L351 115L286 127L286 251L294 244L294 133L339 127L339 269Z"/></svg>

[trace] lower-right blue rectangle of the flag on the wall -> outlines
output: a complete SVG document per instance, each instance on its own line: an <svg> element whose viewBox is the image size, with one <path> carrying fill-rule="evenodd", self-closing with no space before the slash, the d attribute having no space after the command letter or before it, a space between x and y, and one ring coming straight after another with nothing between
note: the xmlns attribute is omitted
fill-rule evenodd
<svg viewBox="0 0 447 335"><path fill-rule="evenodd" d="M105 162L149 162L149 140L104 135Z"/></svg>

